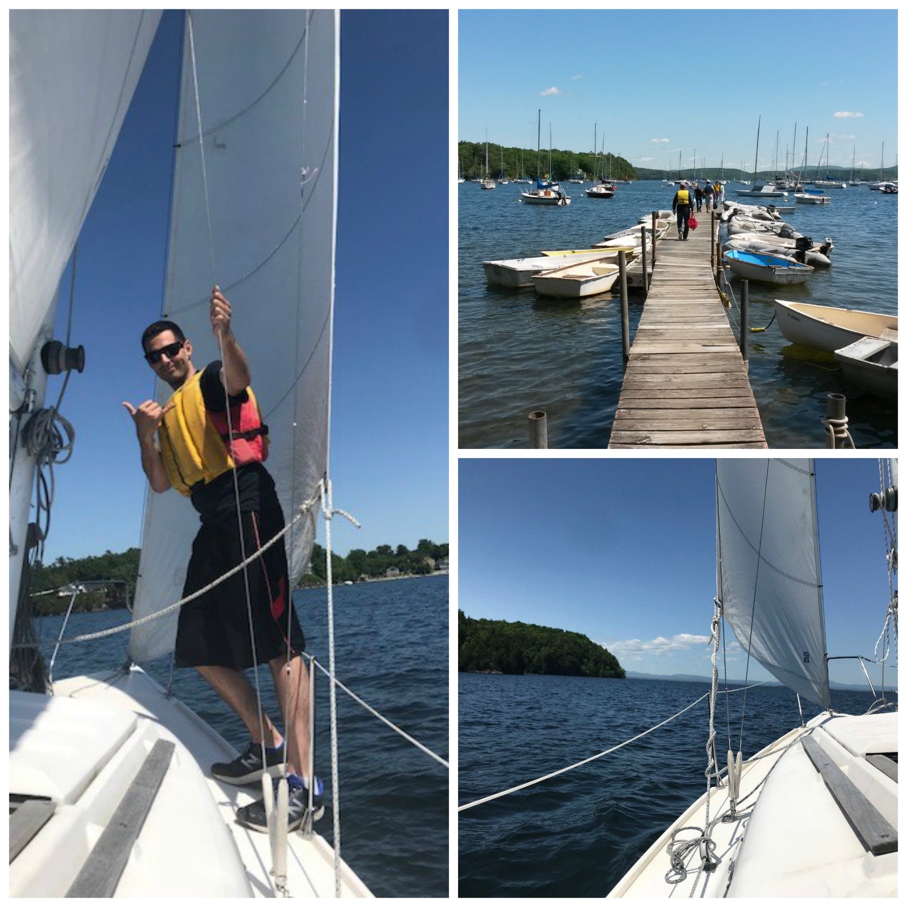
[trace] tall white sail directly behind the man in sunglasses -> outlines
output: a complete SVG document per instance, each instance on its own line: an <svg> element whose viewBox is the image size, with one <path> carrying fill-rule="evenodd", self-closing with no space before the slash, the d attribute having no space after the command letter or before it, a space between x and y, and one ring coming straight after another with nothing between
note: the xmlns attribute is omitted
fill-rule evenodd
<svg viewBox="0 0 907 907"><path fill-rule="evenodd" d="M268 471L288 520L327 469L334 295L338 28L332 11L195 11L195 65L207 171L202 181L192 48L184 40L164 316L203 367L218 358L209 318L217 282L249 359L271 440ZM188 32L188 23L187 23ZM213 246L214 269L211 268ZM171 391L159 384L162 402ZM180 599L198 515L175 491L148 493L135 614ZM290 579L314 541L286 537ZM176 614L133 629L136 661L169 653Z"/></svg>

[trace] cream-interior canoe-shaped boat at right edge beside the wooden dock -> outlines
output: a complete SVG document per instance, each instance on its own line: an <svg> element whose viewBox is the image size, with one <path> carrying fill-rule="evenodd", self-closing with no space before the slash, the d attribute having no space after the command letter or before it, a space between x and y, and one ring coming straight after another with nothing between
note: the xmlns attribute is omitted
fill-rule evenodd
<svg viewBox="0 0 907 907"><path fill-rule="evenodd" d="M775 299L781 333L791 342L834 353L863 336L897 340L898 317L853 308L813 306Z"/></svg>

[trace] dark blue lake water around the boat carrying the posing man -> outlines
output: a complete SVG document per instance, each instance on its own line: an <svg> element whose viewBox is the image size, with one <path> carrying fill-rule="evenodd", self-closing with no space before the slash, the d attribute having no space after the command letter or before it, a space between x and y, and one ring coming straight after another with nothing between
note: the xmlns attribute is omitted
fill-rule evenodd
<svg viewBox="0 0 907 907"><path fill-rule="evenodd" d="M448 758L447 577L360 583L334 593L337 678L382 715L439 756ZM327 666L327 598L323 589L293 600L307 651ZM67 636L126 621L126 611L75 614ZM63 619L45 618L39 631L53 646ZM63 646L56 678L118 668L126 637ZM43 645L48 654L53 649ZM166 686L169 659L143 666ZM267 676L266 676L267 675ZM279 715L270 672L261 672L265 707ZM194 670L174 673L173 691L239 750L245 727ZM317 683L317 772L330 786L330 706L327 678ZM343 857L378 896L445 897L448 892L448 776L361 706L337 690ZM331 837L328 806L317 830Z"/></svg>

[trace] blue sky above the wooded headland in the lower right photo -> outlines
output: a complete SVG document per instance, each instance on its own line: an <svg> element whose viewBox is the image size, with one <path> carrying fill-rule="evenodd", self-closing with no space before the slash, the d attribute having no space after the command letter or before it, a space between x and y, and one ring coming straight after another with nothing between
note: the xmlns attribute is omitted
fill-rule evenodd
<svg viewBox="0 0 907 907"><path fill-rule="evenodd" d="M878 488L876 460L816 461L829 655L872 658L883 628ZM459 493L467 615L583 633L628 670L711 674L713 460L462 459ZM728 655L728 676L743 678L746 653ZM753 662L749 676L768 674ZM864 682L857 662L832 662L831 676Z"/></svg>

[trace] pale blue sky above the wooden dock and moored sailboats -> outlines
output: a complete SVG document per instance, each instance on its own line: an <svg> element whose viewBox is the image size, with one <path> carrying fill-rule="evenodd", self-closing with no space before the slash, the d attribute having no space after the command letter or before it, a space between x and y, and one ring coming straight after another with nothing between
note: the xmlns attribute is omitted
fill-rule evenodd
<svg viewBox="0 0 907 907"><path fill-rule="evenodd" d="M709 39L707 36L711 35ZM753 37L748 37L753 35ZM542 36L545 36L543 39ZM897 151L897 18L893 11L463 11L457 138L590 151L643 167L753 165L785 144L815 163L831 133L831 164L878 168ZM835 115L838 114L838 115ZM844 115L849 114L849 115ZM859 115L856 115L859 114ZM653 141L657 140L657 141ZM668 140L668 141L665 141ZM533 171L534 172L534 171Z"/></svg>

